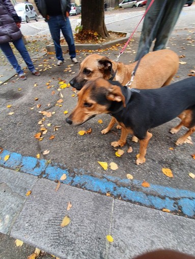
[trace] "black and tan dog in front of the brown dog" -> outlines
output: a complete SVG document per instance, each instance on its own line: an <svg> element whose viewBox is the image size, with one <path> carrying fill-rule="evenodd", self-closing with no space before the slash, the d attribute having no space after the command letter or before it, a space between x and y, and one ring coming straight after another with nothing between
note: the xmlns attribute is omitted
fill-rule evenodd
<svg viewBox="0 0 195 259"><path fill-rule="evenodd" d="M189 128L176 145L181 145L195 131L195 78L181 80L159 89L128 89L119 82L103 78L91 80L78 93L78 103L66 121L81 125L97 114L108 113L122 126L121 138L112 142L114 147L124 146L128 133L140 140L140 156L136 164L145 162L152 134L150 128L175 117L181 122L171 129L177 133L182 126Z"/></svg>

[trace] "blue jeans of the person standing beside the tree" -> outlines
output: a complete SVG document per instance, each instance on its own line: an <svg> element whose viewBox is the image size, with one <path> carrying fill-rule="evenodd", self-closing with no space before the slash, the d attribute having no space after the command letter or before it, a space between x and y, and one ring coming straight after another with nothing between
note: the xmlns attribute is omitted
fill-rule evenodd
<svg viewBox="0 0 195 259"><path fill-rule="evenodd" d="M62 30L62 34L68 44L70 58L76 57L74 38L69 18L64 17L63 15L49 16L47 22L55 47L55 55L58 60L64 61L62 48L60 46L60 30Z"/></svg>

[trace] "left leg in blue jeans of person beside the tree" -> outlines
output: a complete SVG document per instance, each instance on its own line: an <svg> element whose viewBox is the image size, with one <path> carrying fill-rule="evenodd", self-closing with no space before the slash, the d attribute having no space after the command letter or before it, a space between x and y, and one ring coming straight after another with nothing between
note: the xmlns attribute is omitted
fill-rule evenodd
<svg viewBox="0 0 195 259"><path fill-rule="evenodd" d="M59 16L50 16L48 20L49 30L55 47L55 55L58 60L64 61L62 48L60 46L60 24Z"/></svg>

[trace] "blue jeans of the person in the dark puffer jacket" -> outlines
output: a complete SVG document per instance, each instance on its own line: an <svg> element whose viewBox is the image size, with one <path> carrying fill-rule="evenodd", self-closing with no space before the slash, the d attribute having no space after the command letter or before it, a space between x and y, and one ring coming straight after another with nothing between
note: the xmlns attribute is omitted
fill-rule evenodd
<svg viewBox="0 0 195 259"><path fill-rule="evenodd" d="M23 60L25 61L29 70L31 72L33 72L35 70L35 67L31 60L29 52L27 52L27 49L24 45L22 38L20 38L19 40L13 41L13 44L14 44L15 48L19 51L20 55L23 57ZM0 44L0 47L1 47L2 51L4 52L4 54L6 55L9 62L11 63L11 65L13 66L13 68L16 70L16 72L19 75L24 74L23 70L21 69L20 65L18 64L18 61L13 53L12 48L10 47L9 42Z"/></svg>

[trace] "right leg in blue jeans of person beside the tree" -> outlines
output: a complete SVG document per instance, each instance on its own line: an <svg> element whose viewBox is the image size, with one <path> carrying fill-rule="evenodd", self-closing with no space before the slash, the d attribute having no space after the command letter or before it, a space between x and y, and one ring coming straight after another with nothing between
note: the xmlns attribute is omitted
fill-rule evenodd
<svg viewBox="0 0 195 259"><path fill-rule="evenodd" d="M64 18L62 16L60 19L60 23L61 23L62 34L68 44L70 58L73 59L74 57L76 57L76 50L75 50L74 38L72 34L70 20L68 17Z"/></svg>

